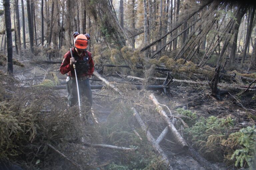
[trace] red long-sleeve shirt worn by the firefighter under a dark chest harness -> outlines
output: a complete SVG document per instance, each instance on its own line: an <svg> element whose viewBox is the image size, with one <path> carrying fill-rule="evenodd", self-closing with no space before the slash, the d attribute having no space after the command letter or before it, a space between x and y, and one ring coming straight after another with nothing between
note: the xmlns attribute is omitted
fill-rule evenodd
<svg viewBox="0 0 256 170"><path fill-rule="evenodd" d="M78 53L75 50L75 47L72 48L72 51L73 51L73 56L74 57L77 56L78 60L83 60L84 56L86 55L85 54L86 52L84 51L84 52L82 52L81 56L79 56ZM81 75L81 77L87 76L87 75L91 76L93 74L93 71L94 71L94 62L92 60L92 54L89 51L87 51L87 54L88 54L88 57L89 57L89 61L88 61L89 70L88 70L87 73L83 73ZM67 74L68 73L68 76L75 77L75 70L73 68L73 65L70 66L70 58L71 58L71 53L70 53L70 51L68 51L63 57L63 62L60 66L60 72L61 72L61 74Z"/></svg>

